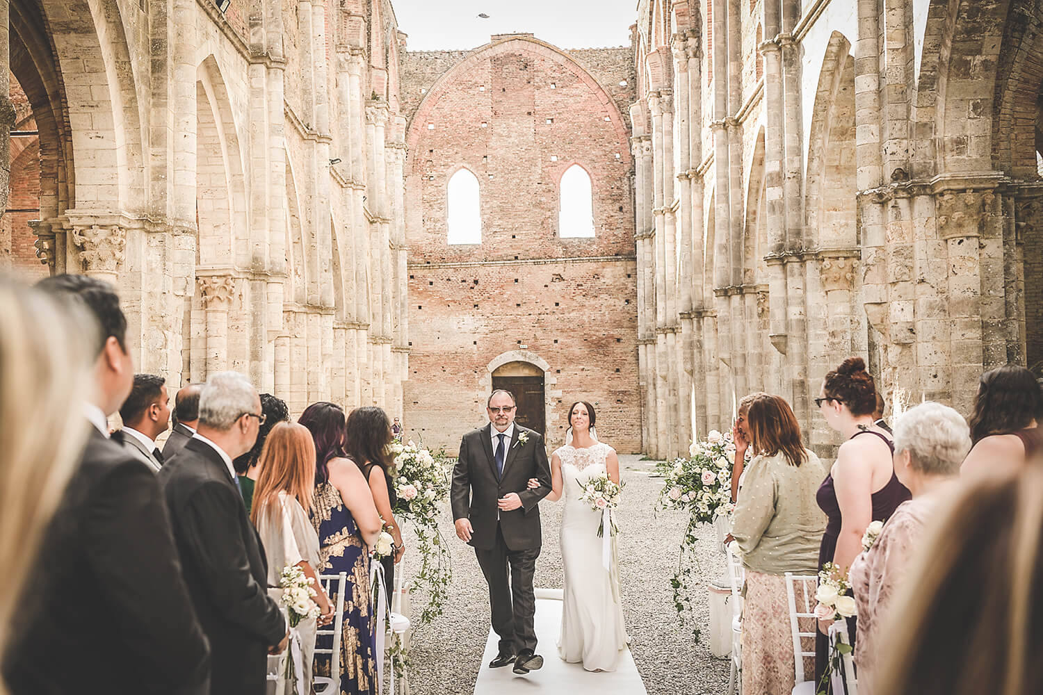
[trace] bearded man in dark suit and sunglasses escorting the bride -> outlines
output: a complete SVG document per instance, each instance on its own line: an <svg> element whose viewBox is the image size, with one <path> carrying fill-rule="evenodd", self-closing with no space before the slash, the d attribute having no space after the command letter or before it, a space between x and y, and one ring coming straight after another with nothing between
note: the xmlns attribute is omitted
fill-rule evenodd
<svg viewBox="0 0 1043 695"><path fill-rule="evenodd" d="M543 665L536 653L532 581L542 545L537 503L551 492L551 467L543 438L516 424L515 409L509 391L489 396L489 424L460 442L451 500L457 536L474 546L489 585L492 628L500 636L500 653L489 667L514 662L514 672L526 674ZM529 490L529 478L539 487Z"/></svg>

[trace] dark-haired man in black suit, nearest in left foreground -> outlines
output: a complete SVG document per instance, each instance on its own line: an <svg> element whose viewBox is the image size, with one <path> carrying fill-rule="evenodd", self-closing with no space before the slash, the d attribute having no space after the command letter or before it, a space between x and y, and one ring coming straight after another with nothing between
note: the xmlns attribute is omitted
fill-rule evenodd
<svg viewBox="0 0 1043 695"><path fill-rule="evenodd" d="M84 403L93 427L13 626L7 687L15 695L205 693L210 649L155 475L108 437L106 416L134 378L119 297L82 275L51 277L40 288L84 305L100 343Z"/></svg>

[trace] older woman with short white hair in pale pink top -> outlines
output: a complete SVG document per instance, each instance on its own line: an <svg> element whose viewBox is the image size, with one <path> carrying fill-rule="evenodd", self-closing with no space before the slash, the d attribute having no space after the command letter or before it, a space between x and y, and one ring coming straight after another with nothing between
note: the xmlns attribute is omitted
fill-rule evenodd
<svg viewBox="0 0 1043 695"><path fill-rule="evenodd" d="M868 550L851 563L851 587L858 606L855 663L858 691L870 693L878 629L895 589L912 564L925 522L942 491L960 474L971 448L970 428L947 405L926 402L906 411L895 423L895 474L913 499L902 502ZM870 541L872 528L864 544Z"/></svg>

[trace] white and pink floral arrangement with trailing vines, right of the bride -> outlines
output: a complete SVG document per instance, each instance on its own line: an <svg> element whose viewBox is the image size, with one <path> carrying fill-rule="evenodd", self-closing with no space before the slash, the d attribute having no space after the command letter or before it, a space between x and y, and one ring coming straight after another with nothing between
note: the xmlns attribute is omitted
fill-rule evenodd
<svg viewBox="0 0 1043 695"><path fill-rule="evenodd" d="M688 526L681 539L677 571L671 579L674 607L681 622L692 622L692 601L695 591L693 570L698 563L696 527L712 524L734 510L731 502L731 469L735 461L735 444L731 433L710 431L701 442L693 442L687 457L659 463L656 468L665 479L659 494L659 510L680 510L688 513ZM696 640L699 629L693 628Z"/></svg>

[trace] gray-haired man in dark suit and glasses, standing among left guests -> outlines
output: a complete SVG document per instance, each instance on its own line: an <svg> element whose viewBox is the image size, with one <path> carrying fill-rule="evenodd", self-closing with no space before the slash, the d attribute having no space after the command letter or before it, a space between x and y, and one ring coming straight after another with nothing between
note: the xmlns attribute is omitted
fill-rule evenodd
<svg viewBox="0 0 1043 695"><path fill-rule="evenodd" d="M185 581L214 654L213 695L265 691L267 654L289 632L268 596L268 564L232 460L250 450L265 417L238 372L212 374L199 395L199 427L160 471Z"/></svg>

